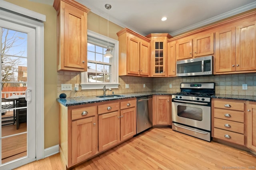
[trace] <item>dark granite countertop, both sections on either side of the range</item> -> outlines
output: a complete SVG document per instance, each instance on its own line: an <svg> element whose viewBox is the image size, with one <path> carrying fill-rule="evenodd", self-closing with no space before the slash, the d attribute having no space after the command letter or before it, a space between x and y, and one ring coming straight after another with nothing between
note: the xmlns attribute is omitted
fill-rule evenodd
<svg viewBox="0 0 256 170"><path fill-rule="evenodd" d="M81 104L99 103L99 102L106 102L106 101L112 101L112 100L139 98L139 97L151 96L151 95L172 95L175 93L177 92L164 92L164 91L136 92L136 93L117 94L117 95L121 95L121 97L113 97L113 98L98 98L96 96L80 96L80 97L66 98L66 99L58 98L57 101L63 106L75 106L75 105L81 105ZM109 96L109 95L106 95L106 96ZM248 101L256 102L256 96L214 94L213 96L211 96L211 98L248 100Z"/></svg>

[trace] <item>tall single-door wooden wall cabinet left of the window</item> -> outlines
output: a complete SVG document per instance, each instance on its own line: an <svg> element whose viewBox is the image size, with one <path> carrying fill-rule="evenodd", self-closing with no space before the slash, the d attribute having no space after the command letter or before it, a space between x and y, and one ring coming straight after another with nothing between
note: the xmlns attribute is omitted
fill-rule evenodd
<svg viewBox="0 0 256 170"><path fill-rule="evenodd" d="M87 70L87 13L89 9L74 0L54 0L57 11L57 70Z"/></svg>

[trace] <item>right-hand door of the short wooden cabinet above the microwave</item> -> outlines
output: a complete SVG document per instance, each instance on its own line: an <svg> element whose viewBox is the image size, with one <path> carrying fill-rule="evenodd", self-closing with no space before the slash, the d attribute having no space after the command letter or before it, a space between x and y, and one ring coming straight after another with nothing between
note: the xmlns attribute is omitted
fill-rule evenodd
<svg viewBox="0 0 256 170"><path fill-rule="evenodd" d="M193 39L193 57L211 55L214 52L214 33L202 35Z"/></svg>

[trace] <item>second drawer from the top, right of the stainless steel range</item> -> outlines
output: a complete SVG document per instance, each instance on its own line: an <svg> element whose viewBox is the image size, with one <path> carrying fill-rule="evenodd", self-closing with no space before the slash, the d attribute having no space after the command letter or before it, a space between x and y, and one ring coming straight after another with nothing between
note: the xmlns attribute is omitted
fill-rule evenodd
<svg viewBox="0 0 256 170"><path fill-rule="evenodd" d="M214 108L214 117L244 123L244 112Z"/></svg>

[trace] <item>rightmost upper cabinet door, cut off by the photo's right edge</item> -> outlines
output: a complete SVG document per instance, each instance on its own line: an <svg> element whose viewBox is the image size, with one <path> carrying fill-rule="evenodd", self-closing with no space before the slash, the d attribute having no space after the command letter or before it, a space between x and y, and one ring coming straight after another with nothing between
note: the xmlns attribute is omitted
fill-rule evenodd
<svg viewBox="0 0 256 170"><path fill-rule="evenodd" d="M256 70L256 22L236 27L236 71Z"/></svg>

